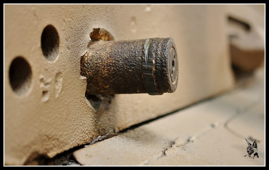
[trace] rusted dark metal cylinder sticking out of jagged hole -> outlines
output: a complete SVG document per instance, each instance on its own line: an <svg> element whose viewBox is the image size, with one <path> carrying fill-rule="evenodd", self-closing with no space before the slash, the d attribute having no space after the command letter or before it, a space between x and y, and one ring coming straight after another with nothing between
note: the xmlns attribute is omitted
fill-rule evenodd
<svg viewBox="0 0 269 170"><path fill-rule="evenodd" d="M92 42L81 59L86 94L159 95L178 84L178 61L172 38Z"/></svg>

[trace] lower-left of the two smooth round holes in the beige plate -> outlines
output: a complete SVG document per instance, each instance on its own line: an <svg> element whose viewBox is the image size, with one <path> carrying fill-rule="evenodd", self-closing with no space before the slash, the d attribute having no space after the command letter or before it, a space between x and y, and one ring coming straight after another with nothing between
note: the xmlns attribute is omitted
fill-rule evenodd
<svg viewBox="0 0 269 170"><path fill-rule="evenodd" d="M18 96L23 96L29 91L32 82L32 70L23 57L16 57L9 68L9 81L12 90Z"/></svg>

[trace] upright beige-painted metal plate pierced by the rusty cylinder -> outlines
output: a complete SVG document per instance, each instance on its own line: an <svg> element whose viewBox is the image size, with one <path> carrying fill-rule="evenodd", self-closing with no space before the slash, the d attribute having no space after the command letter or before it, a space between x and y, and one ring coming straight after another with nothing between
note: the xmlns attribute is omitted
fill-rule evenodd
<svg viewBox="0 0 269 170"><path fill-rule="evenodd" d="M23 165L40 155L53 157L109 130L118 132L231 89L227 9L4 5L5 165ZM45 27L54 44L41 43ZM86 79L80 76L80 57L87 52L93 28L106 29L115 40L174 38L179 63L176 92L115 95L111 104L94 109L84 97ZM44 56L46 51L51 57ZM12 77L10 70L21 78Z"/></svg>

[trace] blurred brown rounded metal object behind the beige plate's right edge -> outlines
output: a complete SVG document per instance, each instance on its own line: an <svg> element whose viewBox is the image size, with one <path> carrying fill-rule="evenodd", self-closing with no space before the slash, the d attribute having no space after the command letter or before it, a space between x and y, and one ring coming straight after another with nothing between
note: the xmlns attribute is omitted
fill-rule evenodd
<svg viewBox="0 0 269 170"><path fill-rule="evenodd" d="M233 67L251 72L262 65L265 54L264 40L248 22L229 17L230 48Z"/></svg>

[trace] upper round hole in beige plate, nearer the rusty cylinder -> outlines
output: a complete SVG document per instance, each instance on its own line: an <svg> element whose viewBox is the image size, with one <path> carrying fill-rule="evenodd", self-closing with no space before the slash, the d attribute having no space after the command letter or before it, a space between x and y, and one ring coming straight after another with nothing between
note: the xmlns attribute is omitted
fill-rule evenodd
<svg viewBox="0 0 269 170"><path fill-rule="evenodd" d="M56 28L52 25L47 25L41 35L41 48L43 55L49 62L58 57L59 44L59 35Z"/></svg>

